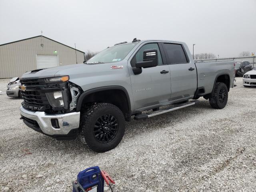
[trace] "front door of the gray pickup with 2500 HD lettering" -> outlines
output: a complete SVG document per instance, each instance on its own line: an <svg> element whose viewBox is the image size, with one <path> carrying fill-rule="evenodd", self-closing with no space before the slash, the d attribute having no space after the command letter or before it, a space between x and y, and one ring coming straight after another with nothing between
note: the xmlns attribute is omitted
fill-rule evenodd
<svg viewBox="0 0 256 192"><path fill-rule="evenodd" d="M134 74L132 67L136 62L143 61L143 51L156 49L158 51L158 66L142 68L141 74ZM158 43L142 45L130 61L129 72L136 109L170 101L171 80L169 66L163 65L162 54Z"/></svg>

